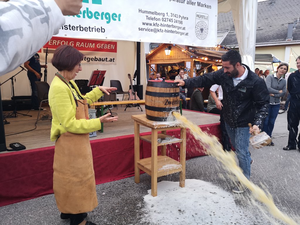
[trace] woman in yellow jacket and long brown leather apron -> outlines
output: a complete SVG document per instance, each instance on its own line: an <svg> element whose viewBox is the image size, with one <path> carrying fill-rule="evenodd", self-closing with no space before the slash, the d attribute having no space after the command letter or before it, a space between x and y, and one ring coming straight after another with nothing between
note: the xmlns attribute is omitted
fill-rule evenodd
<svg viewBox="0 0 300 225"><path fill-rule="evenodd" d="M88 104L101 98L103 92L116 90L99 86L82 96L73 81L82 70L83 54L70 45L59 46L52 65L58 70L50 85L49 105L52 112L51 141L55 142L53 161L53 191L61 219L70 225L94 225L85 221L88 211L97 205L95 174L90 132L101 129L101 122L113 122L118 117L110 113L88 119Z"/></svg>

